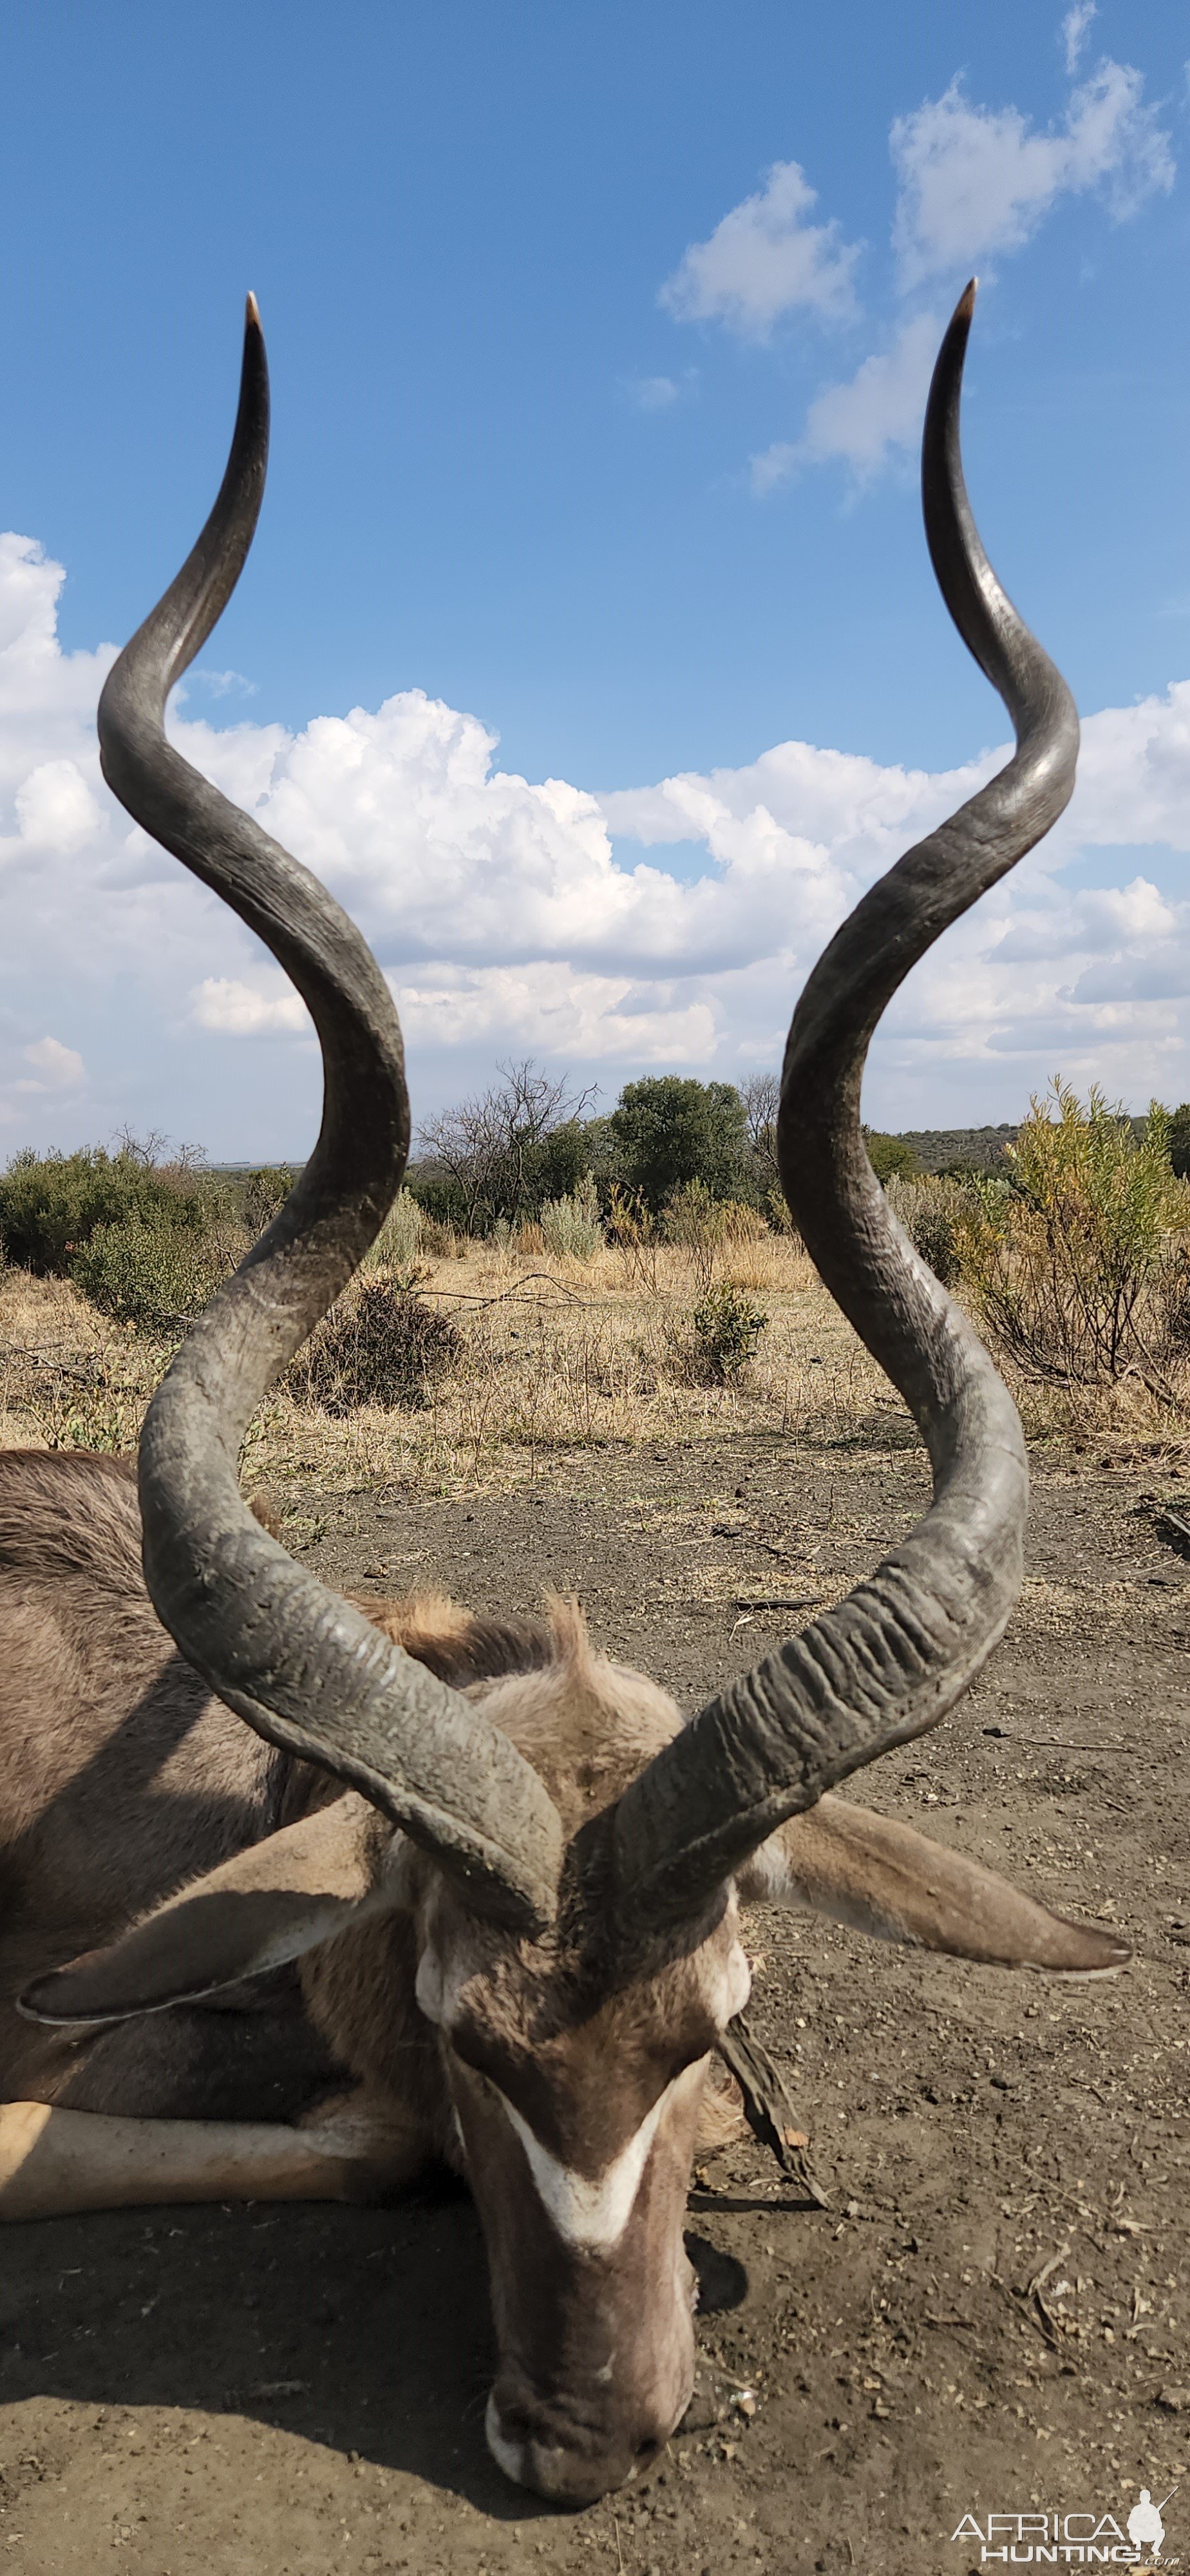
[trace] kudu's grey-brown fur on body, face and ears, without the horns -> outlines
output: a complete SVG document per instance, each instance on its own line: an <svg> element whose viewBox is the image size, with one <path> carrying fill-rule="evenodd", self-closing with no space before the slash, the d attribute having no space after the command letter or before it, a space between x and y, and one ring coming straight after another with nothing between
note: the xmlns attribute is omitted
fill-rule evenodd
<svg viewBox="0 0 1190 2576"><path fill-rule="evenodd" d="M569 1842L680 1726L654 1682L592 1651L569 1602L546 1625L440 1595L363 1607L515 1741ZM446 2159L487 2233L497 2458L569 2501L618 2483L690 2388L685 2179L698 2117L721 2128L703 2071L747 1996L732 1886L636 1965L608 1960L577 1899L536 1942L474 1914L435 1857L332 1772L263 1744L175 1654L121 1461L0 1453L0 2215L5 2102L18 2123L33 2105L100 2115L100 2161L108 2123L139 2120L165 2156L178 2123L180 2197L196 2172L185 2141L201 2148L222 2120L276 2123L278 2138L294 2123L330 2138L348 2120L322 2187L350 2195ZM1120 1955L837 1801L786 1826L752 1880L757 1899L981 1958ZM296 1935L268 1953L291 1919ZM260 1968L263 1955L281 1963ZM18 1996L67 2025L28 2020ZM118 2017L88 2027L95 2012ZM80 2161L33 2202L18 2151L15 2215L103 2202L88 2138L72 2136ZM639 2138L652 2143L621 2208L616 2177ZM270 2187L299 2195L309 2172ZM129 2195L137 2184L116 2182ZM564 2215L582 2221L587 2202L610 2208L590 2244Z"/></svg>

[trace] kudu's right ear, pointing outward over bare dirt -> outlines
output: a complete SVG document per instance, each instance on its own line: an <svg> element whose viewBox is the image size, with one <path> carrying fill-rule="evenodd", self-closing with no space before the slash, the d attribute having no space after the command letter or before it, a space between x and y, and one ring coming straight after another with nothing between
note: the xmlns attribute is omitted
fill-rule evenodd
<svg viewBox="0 0 1190 2576"><path fill-rule="evenodd" d="M842 1798L819 1798L760 1844L737 1878L747 1906L806 1906L840 1924L999 1968L1105 1976L1131 1958L1118 1932L1072 1924L979 1860L943 1850L909 1824Z"/></svg>

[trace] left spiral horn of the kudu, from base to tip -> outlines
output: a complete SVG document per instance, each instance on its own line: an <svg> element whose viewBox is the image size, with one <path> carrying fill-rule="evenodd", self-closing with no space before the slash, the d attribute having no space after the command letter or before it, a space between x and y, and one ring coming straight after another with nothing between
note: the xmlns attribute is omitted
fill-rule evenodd
<svg viewBox="0 0 1190 2576"><path fill-rule="evenodd" d="M299 1566L240 1499L242 1432L376 1239L410 1151L402 1033L363 938L325 886L165 739L173 683L240 580L265 484L268 366L255 299L232 453L180 574L124 647L98 708L108 786L227 902L307 1002L322 1128L286 1206L211 1298L157 1388L139 1448L144 1579L211 1690L270 1744L363 1790L466 1886L541 1932L562 1824L500 1728Z"/></svg>

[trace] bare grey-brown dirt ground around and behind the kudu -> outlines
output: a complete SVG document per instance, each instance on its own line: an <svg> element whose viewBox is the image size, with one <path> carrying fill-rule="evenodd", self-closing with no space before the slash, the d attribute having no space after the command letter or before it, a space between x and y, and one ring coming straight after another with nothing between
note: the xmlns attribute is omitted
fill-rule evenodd
<svg viewBox="0 0 1190 2576"><path fill-rule="evenodd" d="M752 2143L701 2164L708 2393L649 2478L572 2517L500 2478L453 2187L54 2221L0 2244L0 2566L966 2576L963 2517L1123 2530L1141 2483L1175 2491L1162 2568L1190 2566L1190 1564L1141 1504L1169 1461L1074 1468L1038 1471L981 1685L855 1793L1120 1924L1136 1963L1056 1984L752 1917L752 2020L829 2210ZM307 1494L291 1543L394 1592L574 1589L695 1703L796 1620L757 1602L837 1597L922 1502L909 1445L747 1435L580 1450L469 1504Z"/></svg>

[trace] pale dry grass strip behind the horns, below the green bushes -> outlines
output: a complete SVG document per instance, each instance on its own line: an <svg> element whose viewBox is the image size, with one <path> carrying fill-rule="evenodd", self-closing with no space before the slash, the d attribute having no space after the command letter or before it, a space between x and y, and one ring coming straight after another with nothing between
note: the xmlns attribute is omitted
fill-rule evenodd
<svg viewBox="0 0 1190 2576"><path fill-rule="evenodd" d="M683 1383L675 1327L698 1293L677 1247L603 1249L592 1262L523 1244L466 1244L425 1265L464 1345L417 1409L361 1406L330 1419L291 1394L265 1399L245 1443L245 1481L343 1489L399 1479L461 1494L525 1484L549 1455L649 1440L778 1430L855 1458L917 1445L889 1381L822 1288L801 1244L729 1244L716 1278L757 1296L768 1324L739 1388ZM0 1283L0 1440L131 1450L167 1350L95 1314L62 1280ZM1187 1417L1151 1388L1015 1386L1025 1430L1100 1463L1185 1458Z"/></svg>

